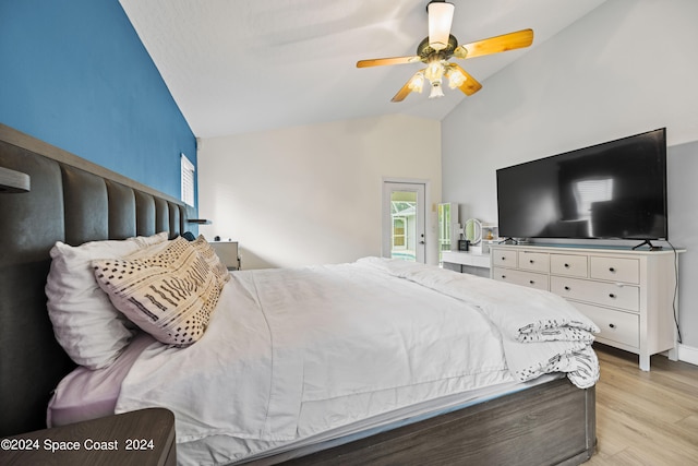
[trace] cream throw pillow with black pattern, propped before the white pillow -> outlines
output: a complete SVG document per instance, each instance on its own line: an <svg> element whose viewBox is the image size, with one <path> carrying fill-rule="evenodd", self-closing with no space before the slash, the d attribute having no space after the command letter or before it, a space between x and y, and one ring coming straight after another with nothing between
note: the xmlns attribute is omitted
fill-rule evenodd
<svg viewBox="0 0 698 466"><path fill-rule="evenodd" d="M183 238L145 258L92 264L117 309L158 340L179 347L202 337L227 282Z"/></svg>

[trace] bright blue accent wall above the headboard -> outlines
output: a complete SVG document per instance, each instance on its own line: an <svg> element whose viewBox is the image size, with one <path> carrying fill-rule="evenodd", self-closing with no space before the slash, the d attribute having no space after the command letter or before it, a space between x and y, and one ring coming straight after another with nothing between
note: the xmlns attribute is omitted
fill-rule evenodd
<svg viewBox="0 0 698 466"><path fill-rule="evenodd" d="M0 122L180 198L196 140L118 0L0 1Z"/></svg>

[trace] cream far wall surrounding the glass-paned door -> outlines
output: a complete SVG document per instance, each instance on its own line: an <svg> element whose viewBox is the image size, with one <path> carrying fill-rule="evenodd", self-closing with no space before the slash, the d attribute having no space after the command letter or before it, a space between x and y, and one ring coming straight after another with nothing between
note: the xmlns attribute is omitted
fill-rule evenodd
<svg viewBox="0 0 698 466"><path fill-rule="evenodd" d="M197 177L213 219L200 231L239 241L243 268L350 262L381 254L384 177L429 181L428 211L441 201L441 123L395 115L205 139Z"/></svg>

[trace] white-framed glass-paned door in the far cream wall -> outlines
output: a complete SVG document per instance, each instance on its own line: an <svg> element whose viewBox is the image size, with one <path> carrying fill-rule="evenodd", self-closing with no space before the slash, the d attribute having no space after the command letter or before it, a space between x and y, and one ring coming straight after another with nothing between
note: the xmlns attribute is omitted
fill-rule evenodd
<svg viewBox="0 0 698 466"><path fill-rule="evenodd" d="M425 262L424 183L383 182L384 258Z"/></svg>

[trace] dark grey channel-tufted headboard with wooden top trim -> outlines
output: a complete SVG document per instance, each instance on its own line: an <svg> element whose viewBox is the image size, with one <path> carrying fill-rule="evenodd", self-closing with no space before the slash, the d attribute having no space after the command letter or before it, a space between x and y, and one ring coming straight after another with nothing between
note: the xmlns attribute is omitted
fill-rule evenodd
<svg viewBox="0 0 698 466"><path fill-rule="evenodd" d="M192 207L0 124L0 167L29 175L0 193L0 437L46 427L51 390L74 363L53 337L44 287L60 240L123 239L190 229Z"/></svg>

